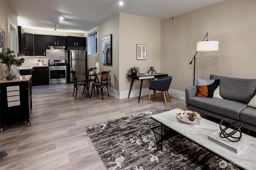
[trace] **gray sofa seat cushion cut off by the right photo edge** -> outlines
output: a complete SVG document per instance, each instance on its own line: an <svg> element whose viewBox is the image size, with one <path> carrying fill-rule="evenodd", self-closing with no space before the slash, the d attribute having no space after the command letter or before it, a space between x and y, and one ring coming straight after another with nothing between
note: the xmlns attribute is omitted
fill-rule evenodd
<svg viewBox="0 0 256 170"><path fill-rule="evenodd" d="M244 123L256 126L256 109L247 107L240 113L240 120Z"/></svg>

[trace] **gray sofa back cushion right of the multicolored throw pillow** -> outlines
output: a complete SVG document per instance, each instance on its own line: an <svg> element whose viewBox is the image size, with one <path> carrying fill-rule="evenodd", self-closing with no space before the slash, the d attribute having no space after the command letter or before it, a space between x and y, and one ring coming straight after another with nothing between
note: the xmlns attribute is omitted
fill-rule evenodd
<svg viewBox="0 0 256 170"><path fill-rule="evenodd" d="M248 104L256 91L256 79L232 78L210 75L210 79L220 79L220 95L224 99Z"/></svg>

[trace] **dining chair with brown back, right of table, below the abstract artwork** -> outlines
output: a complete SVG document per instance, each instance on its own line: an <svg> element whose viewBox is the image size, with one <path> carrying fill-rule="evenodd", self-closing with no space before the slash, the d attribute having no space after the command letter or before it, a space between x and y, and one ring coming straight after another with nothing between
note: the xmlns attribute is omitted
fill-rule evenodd
<svg viewBox="0 0 256 170"><path fill-rule="evenodd" d="M103 87L106 86L107 88L107 92L108 92L108 74L110 73L110 70L108 71L102 71L101 72L101 81L100 82L94 82L92 83L92 90L94 89L95 90L95 87L97 88L97 92L98 92L98 95L99 95L99 90L98 88L100 88L100 91L101 91L101 95L102 95L102 100L103 100ZM109 94L108 94L109 96ZM92 92L91 92L91 96L90 98L92 97Z"/></svg>

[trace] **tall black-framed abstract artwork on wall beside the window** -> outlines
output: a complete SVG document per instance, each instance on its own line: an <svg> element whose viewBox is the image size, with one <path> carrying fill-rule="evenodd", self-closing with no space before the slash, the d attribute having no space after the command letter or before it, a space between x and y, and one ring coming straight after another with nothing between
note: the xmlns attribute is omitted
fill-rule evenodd
<svg viewBox="0 0 256 170"><path fill-rule="evenodd" d="M102 37L102 64L112 65L112 34Z"/></svg>

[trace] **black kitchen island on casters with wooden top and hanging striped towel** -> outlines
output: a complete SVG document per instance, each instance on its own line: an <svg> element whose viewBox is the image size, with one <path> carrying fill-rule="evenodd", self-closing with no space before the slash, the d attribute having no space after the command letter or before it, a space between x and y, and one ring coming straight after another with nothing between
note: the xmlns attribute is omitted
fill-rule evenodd
<svg viewBox="0 0 256 170"><path fill-rule="evenodd" d="M0 80L0 131L4 125L27 121L30 126L32 113L32 75L20 76L13 80Z"/></svg>

